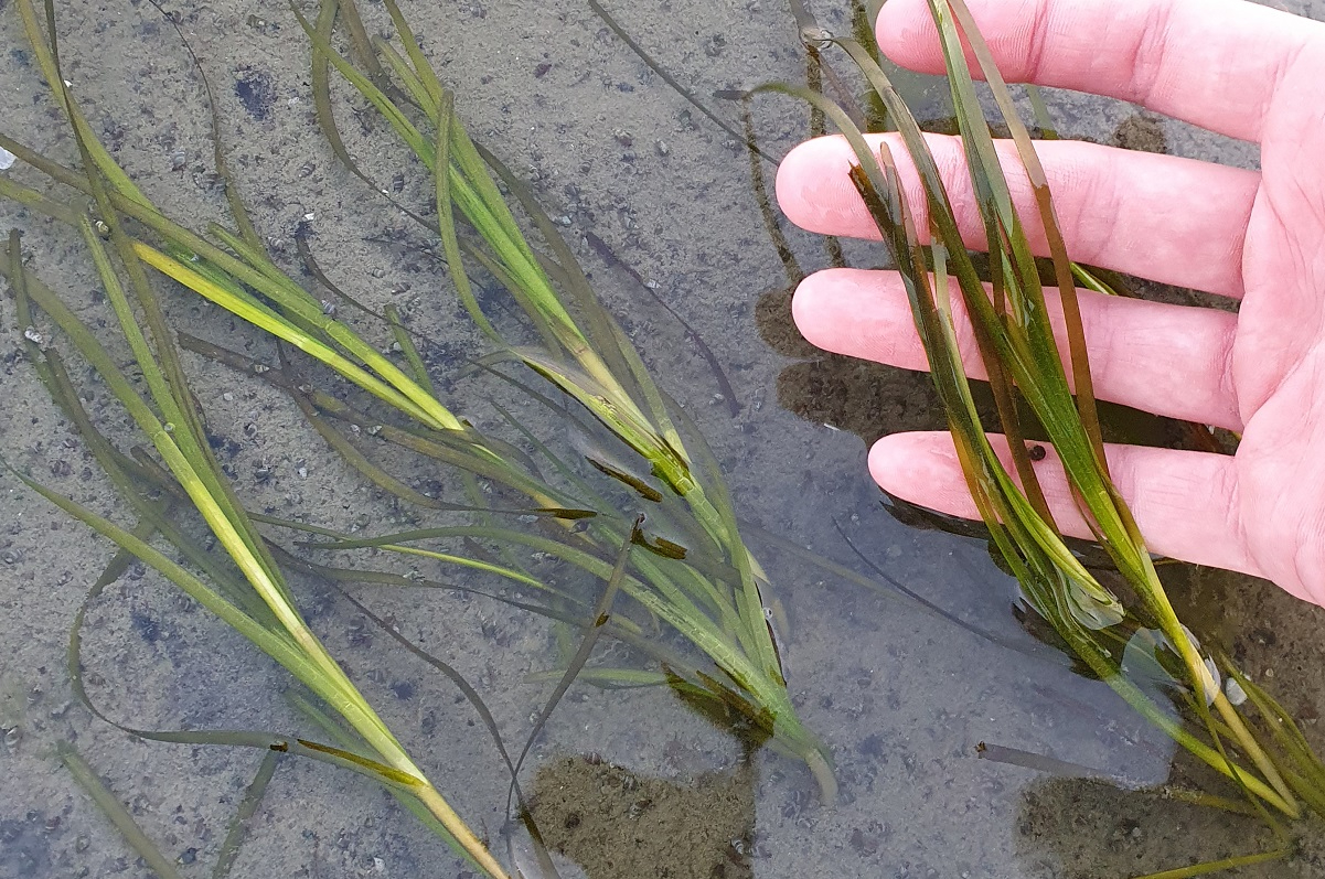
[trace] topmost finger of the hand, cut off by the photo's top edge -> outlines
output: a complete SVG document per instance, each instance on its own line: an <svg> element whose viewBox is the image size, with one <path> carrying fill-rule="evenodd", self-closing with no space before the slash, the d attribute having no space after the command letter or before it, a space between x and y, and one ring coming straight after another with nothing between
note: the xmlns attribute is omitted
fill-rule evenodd
<svg viewBox="0 0 1325 879"><path fill-rule="evenodd" d="M1318 83L1325 26L1246 0L969 0L999 71L1121 98L1211 131L1260 140L1285 82ZM926 0L889 0L878 45L906 68L943 71ZM974 68L974 58L967 57Z"/></svg>

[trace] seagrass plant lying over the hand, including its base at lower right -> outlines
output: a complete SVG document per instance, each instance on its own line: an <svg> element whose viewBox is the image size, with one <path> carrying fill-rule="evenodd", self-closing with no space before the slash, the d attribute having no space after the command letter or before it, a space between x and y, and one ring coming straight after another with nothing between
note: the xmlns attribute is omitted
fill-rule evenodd
<svg viewBox="0 0 1325 879"><path fill-rule="evenodd" d="M934 387L947 414L962 471L1004 563L1022 585L1026 602L1072 651L1138 712L1198 760L1226 776L1267 821L1298 818L1305 808L1325 815L1325 765L1309 749L1292 719L1251 684L1227 657L1211 657L1182 625L1154 560L1109 475L1090 385L1090 371L1076 301L1076 279L1101 283L1068 259L1048 183L1011 93L962 0L930 0L949 71L975 201L986 230L988 271L982 277L962 241L953 203L925 136L888 75L859 42L832 40L844 49L886 109L920 175L929 214L929 238L920 230L902 193L897 164L884 140L872 147L851 116L823 95L796 86L768 86L811 102L841 131L855 152L851 180L859 191L900 273L925 347ZM828 41L828 34L820 34ZM1053 286L1051 306L1032 255L1024 218L1012 205L994 150L963 45L1011 132L1035 193L1037 220L1047 232ZM996 404L1011 454L1011 469L990 443L966 377L953 318L961 297ZM1068 349L1060 351L1051 308L1060 308ZM1067 368L1064 367L1067 364ZM1018 402L1034 417L1024 424ZM1028 428L1044 432L1071 482L1077 507L1122 576L1124 604L1100 582L1064 540L1031 466ZM1040 449L1039 451L1043 451ZM1043 457L1043 455L1039 455ZM1255 710L1244 717L1226 694ZM1177 694L1175 715L1161 688ZM1265 729L1269 731L1267 736ZM1287 846L1272 853L1287 854ZM1251 860L1234 859L1162 875L1199 875Z"/></svg>

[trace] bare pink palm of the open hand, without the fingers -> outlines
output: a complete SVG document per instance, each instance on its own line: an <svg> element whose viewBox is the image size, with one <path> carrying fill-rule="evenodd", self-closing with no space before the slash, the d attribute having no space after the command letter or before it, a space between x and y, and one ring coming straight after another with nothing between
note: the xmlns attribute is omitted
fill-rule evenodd
<svg viewBox="0 0 1325 879"><path fill-rule="evenodd" d="M1325 604L1325 46L1265 116L1230 372L1244 420L1230 503L1259 573Z"/></svg>

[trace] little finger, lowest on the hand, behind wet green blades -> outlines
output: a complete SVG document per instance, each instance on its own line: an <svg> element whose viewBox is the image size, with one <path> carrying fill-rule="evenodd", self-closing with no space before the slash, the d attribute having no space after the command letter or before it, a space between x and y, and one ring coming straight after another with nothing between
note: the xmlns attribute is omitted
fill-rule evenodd
<svg viewBox="0 0 1325 879"><path fill-rule="evenodd" d="M1007 441L991 436L1012 470ZM1063 533L1090 539L1052 449L1035 462L1045 500ZM1265 576L1252 559L1238 516L1238 478L1230 455L1145 446L1105 447L1109 470L1151 552L1195 564ZM894 433L869 451L869 471L886 491L941 512L979 519L947 433Z"/></svg>

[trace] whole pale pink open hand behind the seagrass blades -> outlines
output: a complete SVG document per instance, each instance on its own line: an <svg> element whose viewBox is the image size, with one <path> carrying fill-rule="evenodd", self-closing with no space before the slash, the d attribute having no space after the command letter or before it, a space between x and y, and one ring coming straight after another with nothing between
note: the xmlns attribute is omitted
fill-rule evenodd
<svg viewBox="0 0 1325 879"><path fill-rule="evenodd" d="M1325 605L1325 25L1244 0L967 3L1010 82L1133 101L1260 146L1260 172L1072 142L1039 152L1073 259L1242 301L1232 315L1081 293L1101 398L1243 434L1234 457L1109 449L1150 548ZM925 0L889 0L878 37L893 61L942 71ZM967 244L980 246L959 148L931 146ZM1032 216L1024 175L1002 155ZM877 238L848 156L836 138L802 144L779 169L778 200L806 229ZM820 271L794 312L823 348L925 365L894 273ZM953 455L947 434L893 434L869 467L902 498L974 518ZM1052 453L1039 467L1059 522L1089 536Z"/></svg>

